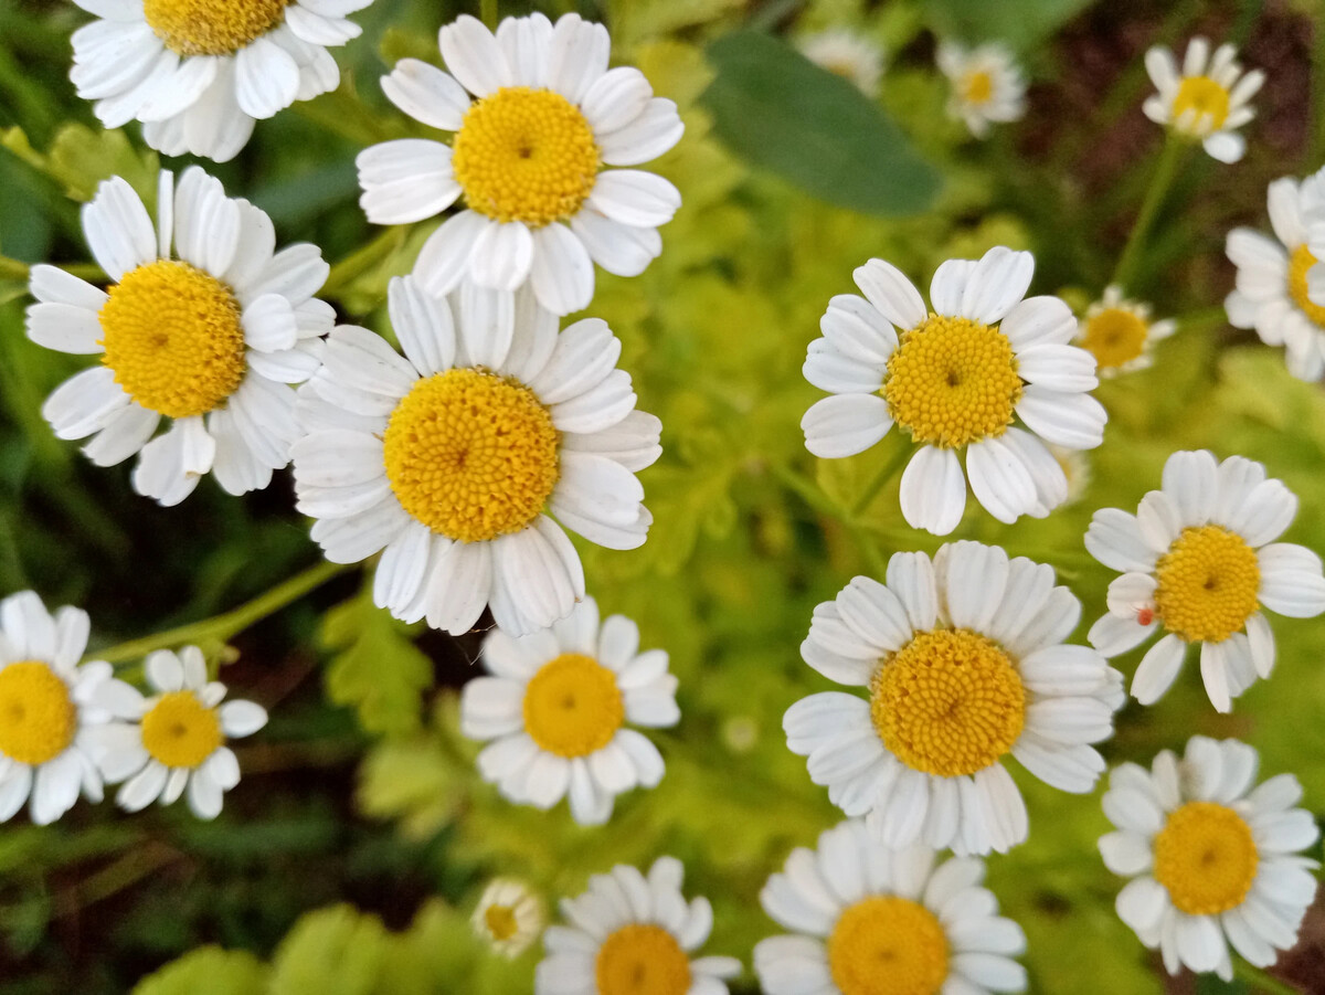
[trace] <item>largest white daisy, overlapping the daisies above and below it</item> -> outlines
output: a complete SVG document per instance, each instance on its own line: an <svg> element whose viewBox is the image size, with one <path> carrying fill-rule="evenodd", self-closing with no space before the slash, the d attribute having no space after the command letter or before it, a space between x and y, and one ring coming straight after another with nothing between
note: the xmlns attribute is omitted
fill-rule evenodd
<svg viewBox="0 0 1325 995"><path fill-rule="evenodd" d="M448 301L398 277L388 310L404 356L338 327L299 391L314 541L335 563L384 550L374 600L398 619L460 635L490 604L513 635L551 625L584 596L562 525L631 550L652 522L635 473L661 423L635 409L621 343L598 318L558 334L527 289L466 281Z"/></svg>

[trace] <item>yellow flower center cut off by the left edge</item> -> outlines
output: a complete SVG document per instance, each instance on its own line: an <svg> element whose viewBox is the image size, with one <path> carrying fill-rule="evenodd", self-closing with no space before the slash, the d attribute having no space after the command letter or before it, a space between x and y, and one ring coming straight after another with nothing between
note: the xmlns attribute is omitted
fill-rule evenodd
<svg viewBox="0 0 1325 995"><path fill-rule="evenodd" d="M37 767L69 749L78 710L48 664L24 660L0 670L0 753Z"/></svg>

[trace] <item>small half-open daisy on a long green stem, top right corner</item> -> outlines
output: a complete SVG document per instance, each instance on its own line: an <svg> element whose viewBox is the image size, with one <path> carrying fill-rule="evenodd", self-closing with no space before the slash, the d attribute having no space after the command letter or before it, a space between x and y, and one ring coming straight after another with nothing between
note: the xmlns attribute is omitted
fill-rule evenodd
<svg viewBox="0 0 1325 995"><path fill-rule="evenodd" d="M1146 72L1159 93L1142 105L1146 117L1182 138L1199 139L1222 163L1238 162L1247 143L1235 129L1256 117L1248 101L1265 74L1259 69L1244 74L1236 57L1232 45L1220 45L1211 56L1210 42L1195 37L1187 42L1179 73L1173 52L1155 45L1146 52Z"/></svg>

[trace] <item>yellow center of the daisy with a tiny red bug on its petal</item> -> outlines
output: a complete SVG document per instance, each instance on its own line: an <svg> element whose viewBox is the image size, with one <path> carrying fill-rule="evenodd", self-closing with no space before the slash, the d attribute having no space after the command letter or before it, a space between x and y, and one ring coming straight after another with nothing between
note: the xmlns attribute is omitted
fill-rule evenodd
<svg viewBox="0 0 1325 995"><path fill-rule="evenodd" d="M1218 525L1183 529L1155 564L1155 613L1187 643L1223 643L1256 611L1256 551Z"/></svg>

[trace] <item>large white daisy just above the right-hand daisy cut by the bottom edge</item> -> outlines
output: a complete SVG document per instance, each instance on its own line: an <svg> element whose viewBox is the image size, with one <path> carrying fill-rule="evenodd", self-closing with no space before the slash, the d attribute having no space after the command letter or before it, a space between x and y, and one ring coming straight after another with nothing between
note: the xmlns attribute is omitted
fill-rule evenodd
<svg viewBox="0 0 1325 995"><path fill-rule="evenodd" d="M1063 791L1090 791L1122 676L1065 645L1081 604L1053 568L996 546L898 552L888 583L855 578L815 608L804 661L868 697L827 692L783 718L787 746L889 847L1000 853L1027 835L1008 754Z"/></svg>

